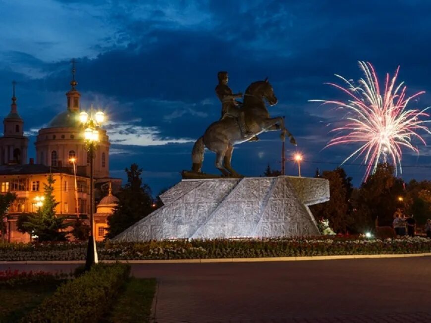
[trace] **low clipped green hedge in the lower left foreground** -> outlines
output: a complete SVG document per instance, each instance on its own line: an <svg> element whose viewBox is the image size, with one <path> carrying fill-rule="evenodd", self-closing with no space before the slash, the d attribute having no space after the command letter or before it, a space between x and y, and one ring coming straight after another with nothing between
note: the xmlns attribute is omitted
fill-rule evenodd
<svg viewBox="0 0 431 323"><path fill-rule="evenodd" d="M22 322L98 322L108 312L129 274L127 264L97 264L88 273L58 287Z"/></svg>

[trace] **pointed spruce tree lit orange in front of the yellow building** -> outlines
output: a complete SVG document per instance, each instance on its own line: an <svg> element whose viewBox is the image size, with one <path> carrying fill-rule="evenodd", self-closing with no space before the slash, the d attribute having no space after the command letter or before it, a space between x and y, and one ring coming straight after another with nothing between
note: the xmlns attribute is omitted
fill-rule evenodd
<svg viewBox="0 0 431 323"><path fill-rule="evenodd" d="M64 217L55 215L55 207L59 204L54 198L53 175L48 176L48 184L44 184L44 202L35 213L24 213L18 217L18 231L27 232L34 236L36 241L65 241L67 240L68 226L64 223Z"/></svg>

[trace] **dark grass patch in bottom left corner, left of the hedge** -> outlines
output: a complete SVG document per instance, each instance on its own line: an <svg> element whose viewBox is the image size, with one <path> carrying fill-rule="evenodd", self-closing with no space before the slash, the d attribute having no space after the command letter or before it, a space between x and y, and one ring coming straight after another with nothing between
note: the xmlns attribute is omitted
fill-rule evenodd
<svg viewBox="0 0 431 323"><path fill-rule="evenodd" d="M0 323L19 320L54 293L60 282L0 287Z"/></svg>

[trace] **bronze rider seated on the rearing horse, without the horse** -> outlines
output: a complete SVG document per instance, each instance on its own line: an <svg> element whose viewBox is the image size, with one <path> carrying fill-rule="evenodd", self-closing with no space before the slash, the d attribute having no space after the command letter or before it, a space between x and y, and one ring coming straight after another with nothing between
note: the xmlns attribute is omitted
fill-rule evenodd
<svg viewBox="0 0 431 323"><path fill-rule="evenodd" d="M242 137L250 136L252 133L247 129L247 125L244 120L244 111L241 109L242 103L235 100L236 98L242 98L242 93L233 93L232 90L227 86L229 81L227 72L218 72L218 85L216 86L216 94L221 101L221 119L226 117L233 117L237 120L239 129L241 130ZM259 140L256 136L250 140Z"/></svg>

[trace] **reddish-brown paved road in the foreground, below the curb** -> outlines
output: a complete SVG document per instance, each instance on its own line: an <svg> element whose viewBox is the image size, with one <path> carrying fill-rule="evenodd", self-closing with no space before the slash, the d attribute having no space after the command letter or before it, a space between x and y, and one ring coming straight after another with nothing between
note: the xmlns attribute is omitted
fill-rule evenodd
<svg viewBox="0 0 431 323"><path fill-rule="evenodd" d="M50 266L59 268L68 267ZM158 278L158 323L431 322L431 257L133 265L132 273Z"/></svg>

